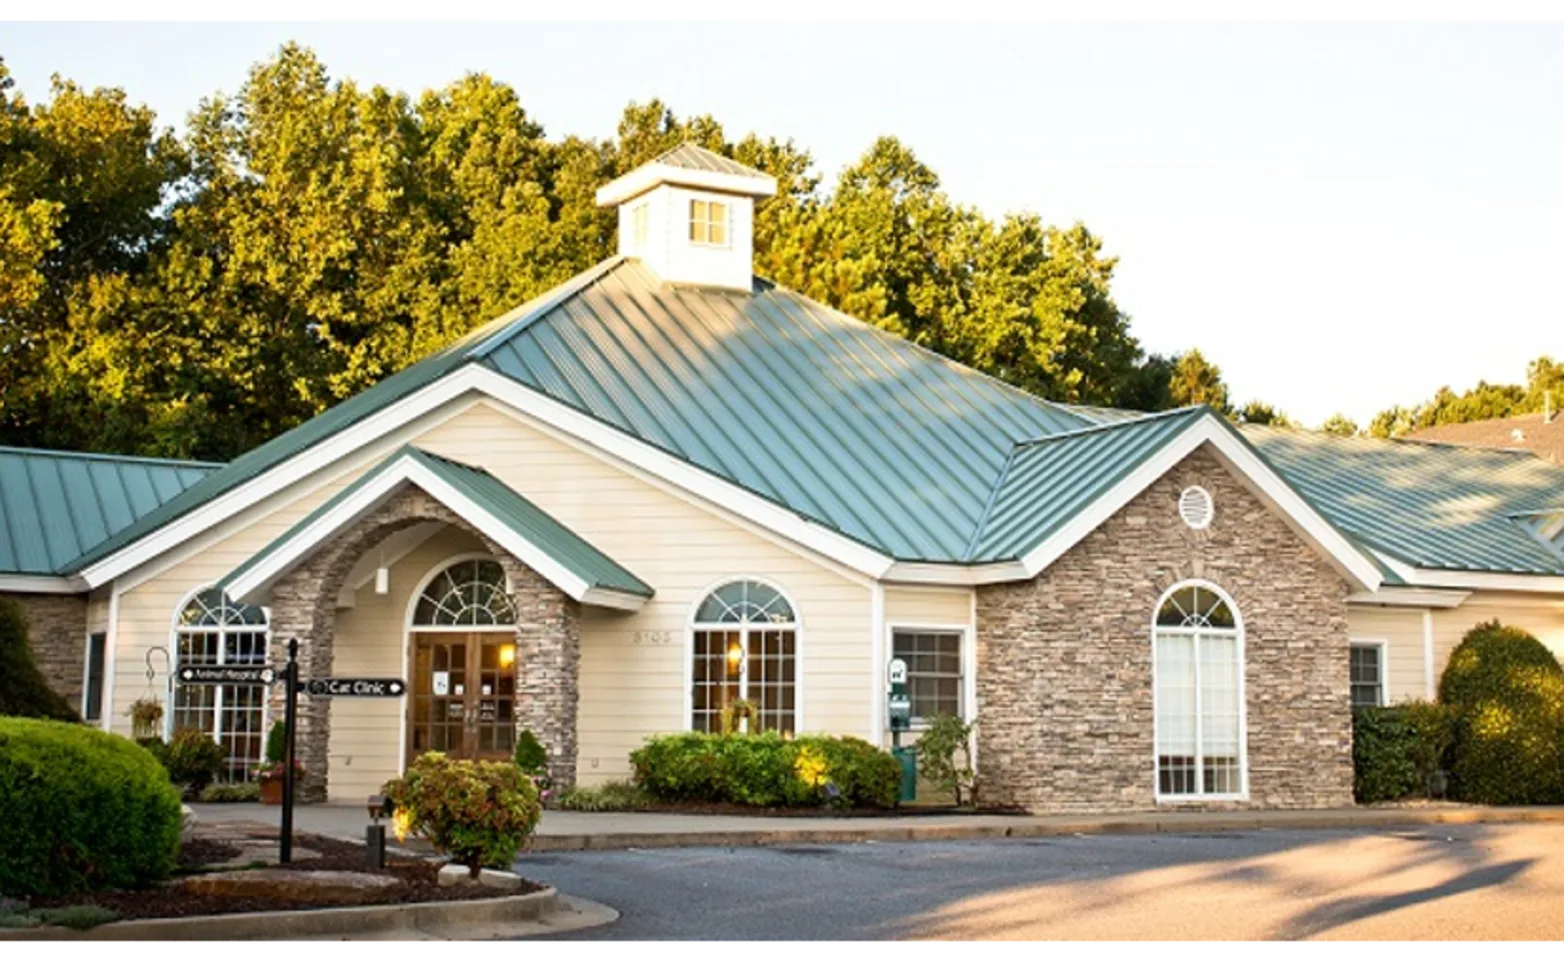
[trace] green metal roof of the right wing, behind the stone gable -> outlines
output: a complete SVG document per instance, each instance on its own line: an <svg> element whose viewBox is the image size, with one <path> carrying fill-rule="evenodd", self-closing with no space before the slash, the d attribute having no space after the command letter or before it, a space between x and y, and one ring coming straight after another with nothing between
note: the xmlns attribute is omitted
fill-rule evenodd
<svg viewBox="0 0 1564 960"><path fill-rule="evenodd" d="M1429 569L1564 574L1523 513L1564 510L1564 467L1531 453L1243 427L1359 543Z"/></svg>

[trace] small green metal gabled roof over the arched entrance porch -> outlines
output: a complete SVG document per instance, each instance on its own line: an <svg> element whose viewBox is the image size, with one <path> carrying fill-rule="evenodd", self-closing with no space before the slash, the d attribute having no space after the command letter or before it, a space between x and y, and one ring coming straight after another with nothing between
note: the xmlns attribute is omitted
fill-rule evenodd
<svg viewBox="0 0 1564 960"><path fill-rule="evenodd" d="M652 588L644 580L615 563L607 553L577 536L569 527L558 522L532 500L518 494L493 474L455 460L436 457L418 447L402 447L386 457L372 471L347 485L335 497L313 510L307 518L289 527L283 535L266 544L261 550L239 564L233 572L219 582L227 588L239 574L258 566L267 557L280 550L286 543L297 538L322 516L335 510L341 502L357 494L363 486L372 483L386 471L396 467L402 460L414 460L429 467L441 480L454 486L465 497L477 503L491 518L522 536L527 543L543 550L555 563L580 577L588 586L613 589L618 593L641 597L652 596Z"/></svg>

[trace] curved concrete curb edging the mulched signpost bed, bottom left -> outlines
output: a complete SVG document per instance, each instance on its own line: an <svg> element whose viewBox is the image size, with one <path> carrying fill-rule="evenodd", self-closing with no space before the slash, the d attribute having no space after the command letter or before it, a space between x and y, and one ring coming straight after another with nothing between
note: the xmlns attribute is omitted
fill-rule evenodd
<svg viewBox="0 0 1564 960"><path fill-rule="evenodd" d="M28 927L0 930L0 944L11 943L244 943L294 937L364 935L394 930L429 930L480 924L515 924L541 919L560 910L552 887L486 901L436 901L425 904L377 904L372 907L325 907L321 910L272 910L266 913L214 913L124 919L91 930Z"/></svg>

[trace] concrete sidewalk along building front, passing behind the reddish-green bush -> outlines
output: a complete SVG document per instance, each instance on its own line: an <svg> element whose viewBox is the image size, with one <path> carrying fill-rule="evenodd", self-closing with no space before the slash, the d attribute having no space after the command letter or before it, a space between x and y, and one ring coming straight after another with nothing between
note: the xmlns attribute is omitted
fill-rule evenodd
<svg viewBox="0 0 1564 960"><path fill-rule="evenodd" d="M277 807L194 804L206 821L278 822ZM369 816L349 804L294 810L294 829L363 840ZM899 843L992 840L1071 833L1204 833L1212 830L1406 827L1425 824L1564 822L1564 807L1351 807L1343 810L1256 810L1234 813L1112 813L999 816L929 813L910 816L702 816L687 813L572 813L549 810L530 852L616 851L671 846L765 846L787 843Z"/></svg>

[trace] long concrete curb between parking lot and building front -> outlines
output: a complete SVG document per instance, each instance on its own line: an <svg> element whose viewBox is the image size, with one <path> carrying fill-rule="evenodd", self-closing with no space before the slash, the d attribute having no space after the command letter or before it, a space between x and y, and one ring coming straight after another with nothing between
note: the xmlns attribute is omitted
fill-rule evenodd
<svg viewBox="0 0 1564 960"><path fill-rule="evenodd" d="M938 840L1004 840L1076 833L1211 833L1229 830L1339 830L1434 824L1564 822L1564 807L1323 810L1298 813L1170 813L1156 818L1079 816L1015 818L1013 824L915 824L898 827L799 827L790 830L715 830L657 833L533 835L522 854L627 851L655 847L752 847L827 843L912 843Z"/></svg>

